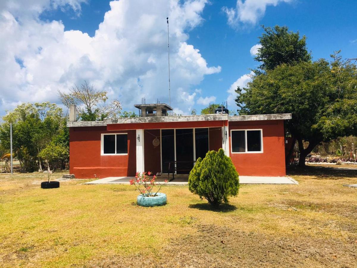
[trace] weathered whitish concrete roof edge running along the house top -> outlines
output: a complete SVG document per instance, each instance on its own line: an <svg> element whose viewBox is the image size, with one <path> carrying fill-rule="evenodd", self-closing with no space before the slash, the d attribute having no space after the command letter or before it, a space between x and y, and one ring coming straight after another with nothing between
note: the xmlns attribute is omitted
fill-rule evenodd
<svg viewBox="0 0 357 268"><path fill-rule="evenodd" d="M164 123L164 122L195 122L195 121L258 121L258 120L285 120L291 119L291 114L257 114L257 115L234 115L228 114L205 114L205 115L178 115L178 116L150 116L136 118L113 118L104 121L76 121L67 122L67 127L80 126L106 126L109 124L135 124L135 123Z"/></svg>

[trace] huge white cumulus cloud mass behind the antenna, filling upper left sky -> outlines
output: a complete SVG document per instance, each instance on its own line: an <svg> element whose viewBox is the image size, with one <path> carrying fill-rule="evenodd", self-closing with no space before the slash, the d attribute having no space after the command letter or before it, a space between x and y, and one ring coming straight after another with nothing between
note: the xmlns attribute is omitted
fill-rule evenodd
<svg viewBox="0 0 357 268"><path fill-rule="evenodd" d="M207 0L120 0L93 37L64 30L61 21L41 21L48 9L80 12L84 0L5 1L0 4L0 113L20 102L59 103L66 91L84 80L107 90L125 109L133 104L169 102L167 24L170 20L171 105L186 111L197 94L192 86L218 73L198 49L187 43L191 29L202 23ZM22 8L21 8L22 6ZM178 110L178 108L177 108Z"/></svg>

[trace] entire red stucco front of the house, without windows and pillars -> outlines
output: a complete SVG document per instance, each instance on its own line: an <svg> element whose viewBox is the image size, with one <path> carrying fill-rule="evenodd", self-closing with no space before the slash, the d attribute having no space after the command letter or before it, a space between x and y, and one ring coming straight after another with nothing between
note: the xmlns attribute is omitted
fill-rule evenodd
<svg viewBox="0 0 357 268"><path fill-rule="evenodd" d="M136 131L125 130L135 126L145 129L145 170L161 170L160 146L154 148L153 135L159 137L158 128L209 127L210 150L222 147L223 121L113 124L103 127L70 128L70 173L76 178L104 178L134 176L136 173ZM110 130L107 130L110 129ZM232 129L263 129L263 153L233 154L230 135ZM100 155L102 133L128 133L128 155ZM153 134L150 135L149 133ZM284 176L283 120L229 122L230 157L240 175ZM161 142L161 141L160 141ZM96 175L96 176L95 176Z"/></svg>

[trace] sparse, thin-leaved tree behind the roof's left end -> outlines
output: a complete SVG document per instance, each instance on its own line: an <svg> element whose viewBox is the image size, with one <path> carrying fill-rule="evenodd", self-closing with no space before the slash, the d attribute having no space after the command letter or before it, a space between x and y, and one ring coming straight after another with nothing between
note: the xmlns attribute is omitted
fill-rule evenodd
<svg viewBox="0 0 357 268"><path fill-rule="evenodd" d="M82 121L102 121L107 116L116 118L120 114L121 104L118 100L106 103L107 91L97 90L86 81L80 86L73 86L69 93L62 91L58 93L65 106L76 105L77 114Z"/></svg>

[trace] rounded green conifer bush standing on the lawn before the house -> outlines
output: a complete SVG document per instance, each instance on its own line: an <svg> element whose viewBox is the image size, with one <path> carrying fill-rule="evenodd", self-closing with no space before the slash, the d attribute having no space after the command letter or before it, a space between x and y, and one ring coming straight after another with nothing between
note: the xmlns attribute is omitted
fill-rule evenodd
<svg viewBox="0 0 357 268"><path fill-rule="evenodd" d="M213 206L228 203L229 196L238 194L238 173L222 148L208 152L203 160L197 159L188 177L188 189Z"/></svg>

